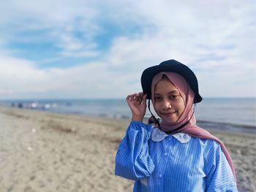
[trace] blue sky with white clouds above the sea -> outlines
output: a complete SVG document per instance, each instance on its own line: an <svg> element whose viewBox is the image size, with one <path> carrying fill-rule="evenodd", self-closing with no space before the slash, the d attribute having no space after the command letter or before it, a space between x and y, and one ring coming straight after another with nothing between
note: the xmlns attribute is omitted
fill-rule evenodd
<svg viewBox="0 0 256 192"><path fill-rule="evenodd" d="M176 59L200 95L256 97L256 1L0 1L0 99L125 98Z"/></svg>

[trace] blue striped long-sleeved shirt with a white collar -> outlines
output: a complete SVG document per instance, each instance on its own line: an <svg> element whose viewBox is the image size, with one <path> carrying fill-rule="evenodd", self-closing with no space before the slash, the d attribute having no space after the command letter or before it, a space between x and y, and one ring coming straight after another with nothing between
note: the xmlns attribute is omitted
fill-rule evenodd
<svg viewBox="0 0 256 192"><path fill-rule="evenodd" d="M115 174L135 180L136 192L237 191L218 142L167 135L138 121L118 147Z"/></svg>

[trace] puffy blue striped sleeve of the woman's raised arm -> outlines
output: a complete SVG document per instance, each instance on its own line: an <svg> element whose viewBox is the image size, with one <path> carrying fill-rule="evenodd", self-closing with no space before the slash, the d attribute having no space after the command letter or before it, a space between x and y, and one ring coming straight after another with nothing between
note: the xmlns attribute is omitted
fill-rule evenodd
<svg viewBox="0 0 256 192"><path fill-rule="evenodd" d="M116 153L115 174L129 180L148 177L154 164L148 153L151 125L132 121Z"/></svg>

